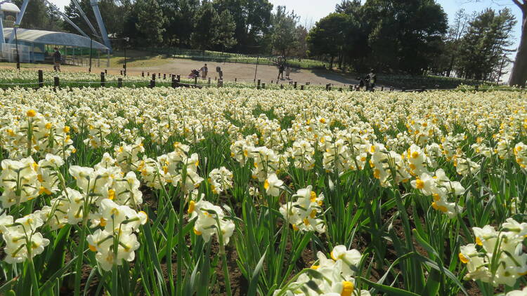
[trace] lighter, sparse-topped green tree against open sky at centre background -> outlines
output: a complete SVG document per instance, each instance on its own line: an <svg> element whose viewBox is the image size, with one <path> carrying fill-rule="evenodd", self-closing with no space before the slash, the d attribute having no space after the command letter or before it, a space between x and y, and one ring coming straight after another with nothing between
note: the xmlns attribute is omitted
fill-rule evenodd
<svg viewBox="0 0 527 296"><path fill-rule="evenodd" d="M297 22L299 16L294 11L287 13L285 6L278 6L271 21L271 42L273 50L286 57L297 48Z"/></svg>

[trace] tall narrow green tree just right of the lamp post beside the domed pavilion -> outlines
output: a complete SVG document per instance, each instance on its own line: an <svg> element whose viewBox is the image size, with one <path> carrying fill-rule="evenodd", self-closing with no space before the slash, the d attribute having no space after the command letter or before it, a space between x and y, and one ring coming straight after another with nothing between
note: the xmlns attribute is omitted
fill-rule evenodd
<svg viewBox="0 0 527 296"><path fill-rule="evenodd" d="M137 0L134 5L136 29L146 42L143 46L157 46L163 42L164 16L157 0Z"/></svg>

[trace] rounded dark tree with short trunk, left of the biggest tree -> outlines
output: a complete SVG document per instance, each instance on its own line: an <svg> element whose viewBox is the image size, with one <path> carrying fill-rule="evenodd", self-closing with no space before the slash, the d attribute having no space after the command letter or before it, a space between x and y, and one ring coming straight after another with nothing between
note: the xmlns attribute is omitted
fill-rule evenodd
<svg viewBox="0 0 527 296"><path fill-rule="evenodd" d="M308 34L308 44L311 55L330 58L330 68L334 59L341 55L346 39L346 27L349 18L344 13L331 13L315 23Z"/></svg>

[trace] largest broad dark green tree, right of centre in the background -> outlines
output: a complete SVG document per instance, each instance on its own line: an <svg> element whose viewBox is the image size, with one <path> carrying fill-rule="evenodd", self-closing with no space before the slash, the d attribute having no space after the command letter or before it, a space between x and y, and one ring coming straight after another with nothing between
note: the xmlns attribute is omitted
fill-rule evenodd
<svg viewBox="0 0 527 296"><path fill-rule="evenodd" d="M446 14L434 0L367 0L370 64L385 70L422 73L439 55L436 44L448 29Z"/></svg>

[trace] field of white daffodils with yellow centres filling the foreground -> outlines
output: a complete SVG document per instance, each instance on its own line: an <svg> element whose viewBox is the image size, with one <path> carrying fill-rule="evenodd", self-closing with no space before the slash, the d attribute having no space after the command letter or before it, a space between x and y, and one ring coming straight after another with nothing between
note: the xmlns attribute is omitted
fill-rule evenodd
<svg viewBox="0 0 527 296"><path fill-rule="evenodd" d="M519 91L9 88L0 155L0 295L527 295Z"/></svg>

